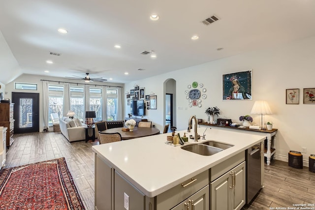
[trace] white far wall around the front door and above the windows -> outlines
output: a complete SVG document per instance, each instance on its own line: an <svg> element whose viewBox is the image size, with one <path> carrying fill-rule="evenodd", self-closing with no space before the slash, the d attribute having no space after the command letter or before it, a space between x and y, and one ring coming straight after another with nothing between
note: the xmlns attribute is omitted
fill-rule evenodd
<svg viewBox="0 0 315 210"><path fill-rule="evenodd" d="M12 101L12 92L35 92L39 93L39 131L42 131L44 128L44 120L43 120L43 86L42 86L42 81L40 80L52 80L52 81L61 81L61 82L73 82L73 80L67 80L64 78L59 78L59 77L43 77L41 75L31 75L31 74L23 74L19 76L17 79L15 79L13 82L7 84L5 86L5 91L7 94L4 94L4 98L10 98ZM33 83L37 84L37 90L14 90L14 83L15 82L20 82L20 83ZM75 81L77 82L77 81ZM82 84L82 82L79 82ZM56 83L56 82L49 82L51 85L63 85L63 83ZM93 84L95 85L108 85L108 86L119 86L119 87L124 87L124 84L119 84L119 83L96 83L94 82ZM70 84L73 85L73 84ZM83 85L78 85L80 87L83 87ZM93 85L92 85L93 86ZM98 86L99 87L99 86ZM122 89L122 92L124 92L124 89ZM123 100L125 102L125 100ZM125 104L122 105L123 107Z"/></svg>

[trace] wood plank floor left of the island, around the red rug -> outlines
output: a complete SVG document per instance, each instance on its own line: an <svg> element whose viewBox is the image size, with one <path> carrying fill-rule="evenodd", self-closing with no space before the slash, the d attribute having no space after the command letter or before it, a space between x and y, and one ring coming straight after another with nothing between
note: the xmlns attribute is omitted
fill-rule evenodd
<svg viewBox="0 0 315 210"><path fill-rule="evenodd" d="M15 134L5 168L64 157L87 210L94 210L94 152L97 143L69 143L60 132Z"/></svg>

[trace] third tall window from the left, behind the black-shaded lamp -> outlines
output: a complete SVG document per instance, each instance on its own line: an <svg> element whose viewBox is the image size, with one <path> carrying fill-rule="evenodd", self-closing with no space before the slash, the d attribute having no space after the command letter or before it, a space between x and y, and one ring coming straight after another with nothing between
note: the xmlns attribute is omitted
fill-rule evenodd
<svg viewBox="0 0 315 210"><path fill-rule="evenodd" d="M90 88L90 110L95 111L95 121L102 120L102 89Z"/></svg>

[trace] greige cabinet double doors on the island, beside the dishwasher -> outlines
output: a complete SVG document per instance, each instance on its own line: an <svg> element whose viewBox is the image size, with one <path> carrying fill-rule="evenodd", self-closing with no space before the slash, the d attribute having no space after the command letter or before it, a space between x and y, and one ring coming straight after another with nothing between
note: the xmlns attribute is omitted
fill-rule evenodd
<svg viewBox="0 0 315 210"><path fill-rule="evenodd" d="M211 210L240 210L245 205L246 170L242 162L210 183Z"/></svg>

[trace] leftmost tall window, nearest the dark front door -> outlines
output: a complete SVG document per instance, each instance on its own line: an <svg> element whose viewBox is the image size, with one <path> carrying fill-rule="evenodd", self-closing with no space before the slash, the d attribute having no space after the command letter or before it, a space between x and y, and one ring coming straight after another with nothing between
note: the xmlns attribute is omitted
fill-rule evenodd
<svg viewBox="0 0 315 210"><path fill-rule="evenodd" d="M59 118L63 116L63 86L49 85L48 95L48 125L52 126L51 113L57 113Z"/></svg>

